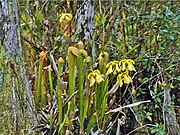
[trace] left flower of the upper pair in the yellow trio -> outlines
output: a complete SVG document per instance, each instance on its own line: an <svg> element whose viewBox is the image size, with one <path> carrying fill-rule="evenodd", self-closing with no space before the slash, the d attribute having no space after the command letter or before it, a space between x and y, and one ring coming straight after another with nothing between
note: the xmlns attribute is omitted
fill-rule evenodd
<svg viewBox="0 0 180 135"><path fill-rule="evenodd" d="M108 69L106 72L106 75L109 75L113 73L114 75L121 71L121 68L119 67L118 61L111 61L106 65L106 68Z"/></svg>

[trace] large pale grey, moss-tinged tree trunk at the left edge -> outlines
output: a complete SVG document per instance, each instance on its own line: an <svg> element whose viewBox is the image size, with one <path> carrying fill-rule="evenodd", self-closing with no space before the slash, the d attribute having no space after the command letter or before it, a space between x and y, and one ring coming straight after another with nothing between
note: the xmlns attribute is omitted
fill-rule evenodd
<svg viewBox="0 0 180 135"><path fill-rule="evenodd" d="M27 112L24 110L26 105L28 105L28 112L33 118L33 123L37 123L33 108L33 97L24 66L19 26L17 1L0 0L0 43L4 46L5 53L8 55L7 69L9 69L11 75L11 102L16 134L19 134L24 113Z"/></svg>

